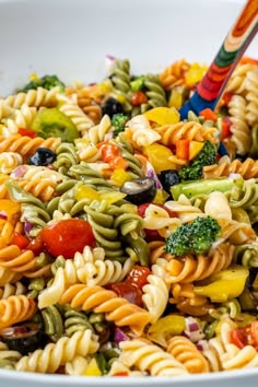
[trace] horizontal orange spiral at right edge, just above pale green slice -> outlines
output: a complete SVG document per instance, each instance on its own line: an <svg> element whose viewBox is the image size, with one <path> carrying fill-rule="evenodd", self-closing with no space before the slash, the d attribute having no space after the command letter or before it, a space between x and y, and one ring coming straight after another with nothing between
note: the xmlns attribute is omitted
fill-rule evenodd
<svg viewBox="0 0 258 387"><path fill-rule="evenodd" d="M258 161L250 157L244 162L234 160L232 162L222 162L219 164L207 165L203 167L204 178L215 178L228 176L230 174L239 174L244 179L258 177Z"/></svg>

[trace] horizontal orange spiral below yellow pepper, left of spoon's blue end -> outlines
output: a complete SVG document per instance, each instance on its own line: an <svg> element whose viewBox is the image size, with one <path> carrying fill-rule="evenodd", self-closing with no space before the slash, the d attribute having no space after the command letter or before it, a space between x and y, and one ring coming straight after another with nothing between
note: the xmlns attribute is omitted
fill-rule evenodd
<svg viewBox="0 0 258 387"><path fill-rule="evenodd" d="M209 140L213 144L218 143L218 129L206 128L196 121L180 121L178 124L164 125L154 129L161 136L159 142L167 146L176 145L178 140L186 139L201 142Z"/></svg>

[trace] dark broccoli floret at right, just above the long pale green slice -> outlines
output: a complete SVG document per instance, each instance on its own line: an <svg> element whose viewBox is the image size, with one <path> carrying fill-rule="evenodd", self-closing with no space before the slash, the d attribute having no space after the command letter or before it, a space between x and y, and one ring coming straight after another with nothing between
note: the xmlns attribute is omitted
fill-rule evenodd
<svg viewBox="0 0 258 387"><path fill-rule="evenodd" d="M216 148L210 142L206 141L200 153L190 162L190 164L183 166L178 171L181 181L197 180L202 176L202 168L206 165L216 163Z"/></svg>

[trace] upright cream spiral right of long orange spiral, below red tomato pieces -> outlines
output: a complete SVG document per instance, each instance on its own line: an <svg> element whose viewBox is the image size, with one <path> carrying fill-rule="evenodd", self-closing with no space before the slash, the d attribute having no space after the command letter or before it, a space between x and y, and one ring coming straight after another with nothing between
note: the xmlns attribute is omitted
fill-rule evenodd
<svg viewBox="0 0 258 387"><path fill-rule="evenodd" d="M155 274L148 275L148 284L142 288L142 301L154 324L163 315L168 302L168 289L164 280Z"/></svg>

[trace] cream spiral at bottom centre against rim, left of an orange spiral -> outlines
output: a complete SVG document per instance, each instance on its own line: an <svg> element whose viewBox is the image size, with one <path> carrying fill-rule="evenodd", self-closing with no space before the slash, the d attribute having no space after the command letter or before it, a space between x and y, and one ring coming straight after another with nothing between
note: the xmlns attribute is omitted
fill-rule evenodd
<svg viewBox="0 0 258 387"><path fill-rule="evenodd" d="M121 341L119 361L128 367L148 372L151 376L185 375L187 371L169 353L146 340Z"/></svg>

